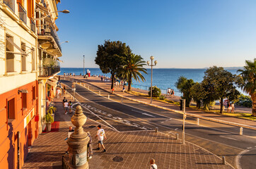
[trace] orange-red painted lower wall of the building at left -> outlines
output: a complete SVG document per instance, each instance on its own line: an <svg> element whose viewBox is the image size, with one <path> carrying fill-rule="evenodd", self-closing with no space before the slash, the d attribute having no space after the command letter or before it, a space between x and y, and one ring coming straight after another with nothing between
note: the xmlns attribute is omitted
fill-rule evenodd
<svg viewBox="0 0 256 169"><path fill-rule="evenodd" d="M6 84L8 85L8 84ZM35 86L35 100L33 100L32 89ZM22 108L22 94L18 94L18 89L27 89L27 108ZM18 167L18 134L20 137L20 165L22 166L28 154L28 146L31 146L37 137L37 96L38 83L37 81L25 84L4 94L0 94L0 168L17 168ZM15 98L16 118L9 120L7 116L7 101ZM28 117L28 116L29 117ZM27 116L27 121L30 121L25 126L24 118ZM21 167L20 166L20 167Z"/></svg>

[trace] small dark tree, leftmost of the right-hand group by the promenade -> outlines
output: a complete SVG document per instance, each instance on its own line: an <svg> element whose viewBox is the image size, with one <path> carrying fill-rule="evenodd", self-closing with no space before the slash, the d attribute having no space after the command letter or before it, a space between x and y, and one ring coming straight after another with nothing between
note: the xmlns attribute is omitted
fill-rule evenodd
<svg viewBox="0 0 256 169"><path fill-rule="evenodd" d="M177 89L182 92L182 99L186 99L186 107L190 106L192 101L192 86L194 85L194 80L188 80L186 77L180 76L178 82L175 83Z"/></svg>

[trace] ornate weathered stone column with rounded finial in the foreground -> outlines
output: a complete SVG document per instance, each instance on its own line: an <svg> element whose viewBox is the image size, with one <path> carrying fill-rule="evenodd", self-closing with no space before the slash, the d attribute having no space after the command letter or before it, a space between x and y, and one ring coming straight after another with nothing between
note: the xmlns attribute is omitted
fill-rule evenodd
<svg viewBox="0 0 256 169"><path fill-rule="evenodd" d="M81 106L76 106L76 113L71 118L71 123L76 126L75 132L66 141L69 144L69 163L73 168L89 168L87 161L87 144L89 137L83 131L86 123L86 115L83 114Z"/></svg>

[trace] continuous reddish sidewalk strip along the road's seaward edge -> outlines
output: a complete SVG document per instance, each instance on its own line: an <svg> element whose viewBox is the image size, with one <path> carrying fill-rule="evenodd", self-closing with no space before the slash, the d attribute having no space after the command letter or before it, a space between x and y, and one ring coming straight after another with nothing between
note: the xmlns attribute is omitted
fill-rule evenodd
<svg viewBox="0 0 256 169"><path fill-rule="evenodd" d="M110 92L110 93L112 92L111 89L110 89L111 82L101 82L100 77L98 77L98 78L97 77L89 77L87 80L83 79L83 77L79 77L79 76L67 77L67 78L70 78L70 79L75 78L75 79L79 79L79 80L85 80L86 82L88 82L90 84L93 84L97 87L105 89L105 91L107 91L107 92ZM143 97L143 96L135 96L135 95L132 95L132 94L128 94L126 92L122 92L122 87L115 87L115 94L120 94L120 95L125 96L129 99L134 99L136 101L141 101L141 102L144 102L146 104L150 104L150 99L149 98L146 98L146 97ZM153 100L152 104L154 104L155 106L170 108L170 109L173 109L175 111L180 111L180 107L176 106L174 104L166 104L164 102L156 101L156 100ZM230 116L219 115L219 114L216 114L216 113L206 113L204 111L194 110L193 108L186 108L186 112L187 113L192 113L192 114L195 114L195 115L202 115L206 118L214 118L216 120L224 120L224 121L231 122L231 123L238 123L238 124L241 124L241 125L250 125L250 126L256 127L256 122L251 121L251 120L233 118L233 117L230 117Z"/></svg>

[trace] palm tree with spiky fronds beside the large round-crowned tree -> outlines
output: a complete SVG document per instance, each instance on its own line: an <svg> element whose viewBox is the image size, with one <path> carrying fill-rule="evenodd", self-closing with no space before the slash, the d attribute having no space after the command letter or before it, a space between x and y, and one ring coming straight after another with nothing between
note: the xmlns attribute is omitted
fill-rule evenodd
<svg viewBox="0 0 256 169"><path fill-rule="evenodd" d="M140 55L131 54L127 56L127 61L125 61L123 65L121 74L122 78L127 79L128 81L128 92L132 89L132 78L136 81L139 81L140 79L142 82L145 81L144 76L141 75L141 72L146 73L146 68L143 68L144 65L146 65L146 62L143 61L143 58L141 58Z"/></svg>

